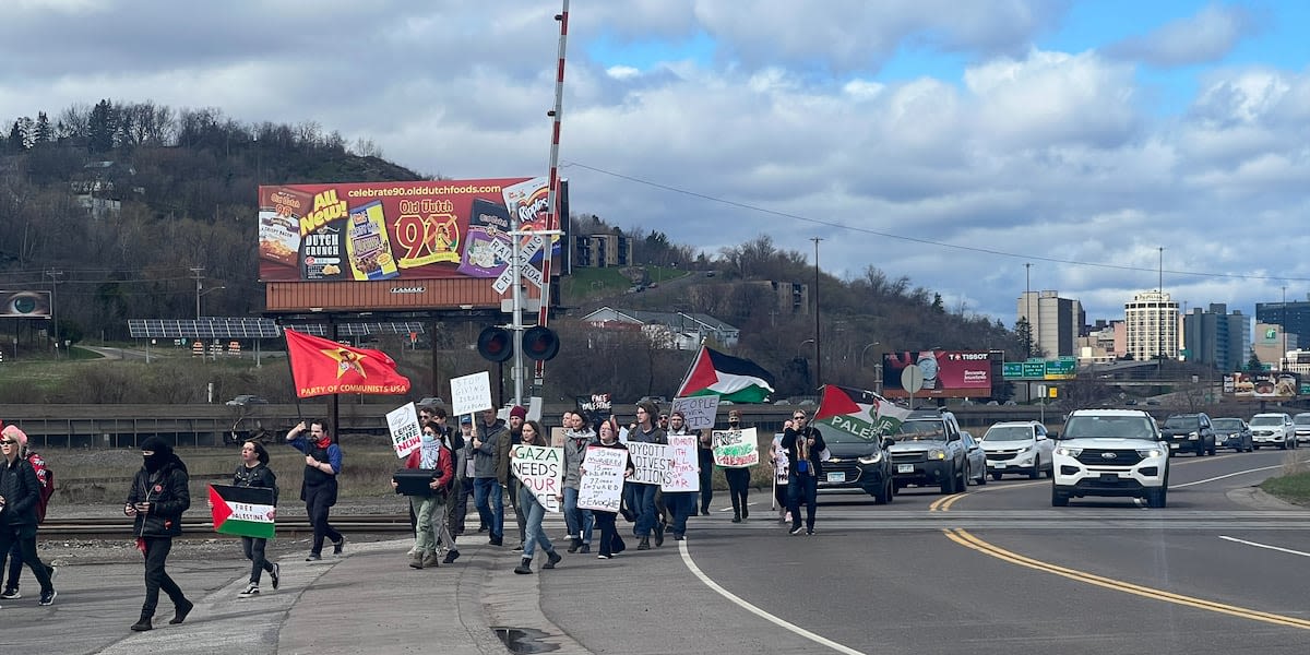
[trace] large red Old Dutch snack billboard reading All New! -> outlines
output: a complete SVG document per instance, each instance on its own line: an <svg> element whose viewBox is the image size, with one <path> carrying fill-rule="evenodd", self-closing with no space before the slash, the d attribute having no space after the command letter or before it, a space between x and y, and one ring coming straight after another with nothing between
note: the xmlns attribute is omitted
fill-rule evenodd
<svg viewBox="0 0 1310 655"><path fill-rule="evenodd" d="M259 280L499 278L511 215L524 231L546 228L546 185L545 177L516 177L261 186ZM558 237L521 244L534 265L528 279L548 252L559 253Z"/></svg>

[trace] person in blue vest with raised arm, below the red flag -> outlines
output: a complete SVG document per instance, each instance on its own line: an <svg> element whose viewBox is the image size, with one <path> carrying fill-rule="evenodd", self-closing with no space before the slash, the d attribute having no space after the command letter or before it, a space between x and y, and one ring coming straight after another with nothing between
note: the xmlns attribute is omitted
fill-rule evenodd
<svg viewBox="0 0 1310 655"><path fill-rule="evenodd" d="M308 430L308 436L305 431ZM331 541L331 554L339 555L346 548L346 536L328 523L331 506L337 504L337 476L341 474L341 445L335 443L326 421L304 421L287 432L291 447L305 453L305 476L300 483L300 499L314 527L314 540L305 562L322 559L324 540Z"/></svg>

